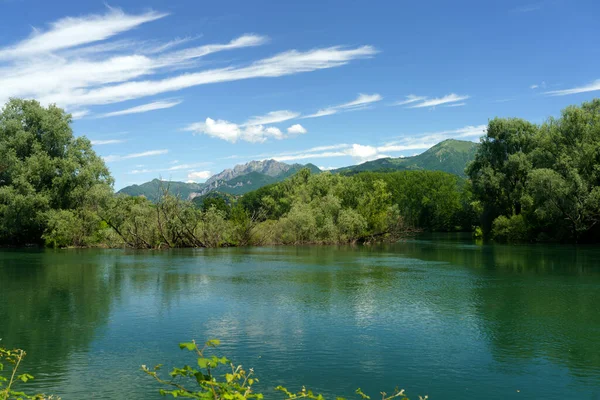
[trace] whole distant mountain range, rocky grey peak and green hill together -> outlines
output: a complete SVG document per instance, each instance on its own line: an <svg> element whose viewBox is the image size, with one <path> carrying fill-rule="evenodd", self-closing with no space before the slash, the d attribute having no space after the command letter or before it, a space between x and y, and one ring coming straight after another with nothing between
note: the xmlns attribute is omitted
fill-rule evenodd
<svg viewBox="0 0 600 400"><path fill-rule="evenodd" d="M430 170L444 171L465 177L465 168L474 159L477 147L477 143L448 139L416 156L380 158L331 172L351 175L364 171ZM158 199L161 188L167 187L170 193L184 199L194 199L213 192L238 196L280 182L302 168L309 168L312 173L321 172L314 164L286 164L276 160L250 161L213 175L205 183L154 179L141 185L124 187L118 193L145 196L153 202Z"/></svg>

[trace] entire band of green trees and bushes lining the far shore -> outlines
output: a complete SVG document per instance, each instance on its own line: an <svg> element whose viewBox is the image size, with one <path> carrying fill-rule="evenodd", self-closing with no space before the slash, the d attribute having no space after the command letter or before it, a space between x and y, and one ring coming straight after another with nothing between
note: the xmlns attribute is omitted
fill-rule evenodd
<svg viewBox="0 0 600 400"><path fill-rule="evenodd" d="M71 115L12 99L0 113L0 244L177 248L394 241L419 231L499 242L598 242L600 100L540 125L491 119L467 179L436 171L300 170L201 202L116 195Z"/></svg>

